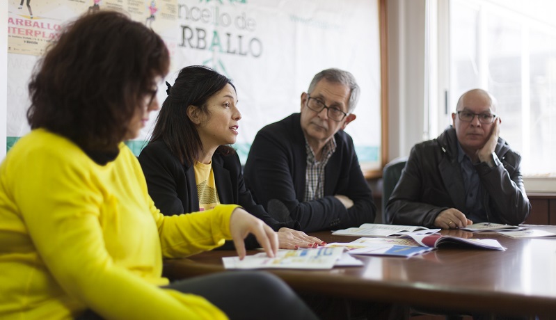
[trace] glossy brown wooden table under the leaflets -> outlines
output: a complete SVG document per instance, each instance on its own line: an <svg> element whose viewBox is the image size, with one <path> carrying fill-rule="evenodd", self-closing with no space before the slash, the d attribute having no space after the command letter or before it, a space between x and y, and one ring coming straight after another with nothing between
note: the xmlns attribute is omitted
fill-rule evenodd
<svg viewBox="0 0 556 320"><path fill-rule="evenodd" d="M529 227L556 233L556 226ZM365 266L270 272L303 293L459 312L556 317L556 238L511 239L459 230L443 230L443 234L497 239L507 250L441 248L407 259L358 255ZM330 232L312 235L328 243L357 239L333 236ZM248 255L255 252L260 251L248 251ZM221 257L235 255L235 251L215 250L187 259L168 259L164 275L181 279L221 272L224 271Z"/></svg>

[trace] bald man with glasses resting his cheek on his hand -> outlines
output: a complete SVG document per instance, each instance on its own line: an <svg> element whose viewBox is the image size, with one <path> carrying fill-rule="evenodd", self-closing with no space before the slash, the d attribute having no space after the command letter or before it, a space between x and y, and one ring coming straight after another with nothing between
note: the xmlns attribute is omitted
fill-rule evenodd
<svg viewBox="0 0 556 320"><path fill-rule="evenodd" d="M499 137L501 123L485 90L461 95L453 127L411 150L386 207L393 223L443 229L523 223L531 205L521 156Z"/></svg>

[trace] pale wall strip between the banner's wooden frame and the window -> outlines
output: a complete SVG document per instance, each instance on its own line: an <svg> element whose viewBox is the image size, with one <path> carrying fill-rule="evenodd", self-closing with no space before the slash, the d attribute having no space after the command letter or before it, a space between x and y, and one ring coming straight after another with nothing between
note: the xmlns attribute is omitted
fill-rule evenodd
<svg viewBox="0 0 556 320"><path fill-rule="evenodd" d="M426 0L388 0L388 161L423 139Z"/></svg>

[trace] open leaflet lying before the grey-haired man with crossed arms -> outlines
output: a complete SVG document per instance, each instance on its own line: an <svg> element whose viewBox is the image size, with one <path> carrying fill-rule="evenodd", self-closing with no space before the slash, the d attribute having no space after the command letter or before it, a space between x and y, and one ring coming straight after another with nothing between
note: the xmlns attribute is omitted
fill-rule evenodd
<svg viewBox="0 0 556 320"><path fill-rule="evenodd" d="M399 237L402 234L433 234L440 229L429 229L415 225L382 225L379 223L363 223L359 227L336 230L332 234L340 236L360 237Z"/></svg>

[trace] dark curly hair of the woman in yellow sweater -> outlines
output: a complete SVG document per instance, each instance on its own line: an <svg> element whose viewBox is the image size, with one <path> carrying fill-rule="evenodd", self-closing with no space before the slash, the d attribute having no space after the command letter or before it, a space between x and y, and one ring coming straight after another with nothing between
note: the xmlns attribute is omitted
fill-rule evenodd
<svg viewBox="0 0 556 320"><path fill-rule="evenodd" d="M169 65L168 49L151 29L122 13L86 13L64 27L35 66L29 125L85 150L114 150Z"/></svg>

